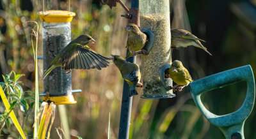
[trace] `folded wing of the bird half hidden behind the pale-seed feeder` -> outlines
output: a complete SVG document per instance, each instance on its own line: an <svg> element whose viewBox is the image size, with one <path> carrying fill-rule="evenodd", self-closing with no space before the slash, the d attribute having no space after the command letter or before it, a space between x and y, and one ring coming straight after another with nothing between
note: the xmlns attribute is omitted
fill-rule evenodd
<svg viewBox="0 0 256 139"><path fill-rule="evenodd" d="M197 38L195 35L189 33L189 31L186 31L184 29L172 29L171 34L172 34L172 37L175 37L175 38L204 41L202 39Z"/></svg>

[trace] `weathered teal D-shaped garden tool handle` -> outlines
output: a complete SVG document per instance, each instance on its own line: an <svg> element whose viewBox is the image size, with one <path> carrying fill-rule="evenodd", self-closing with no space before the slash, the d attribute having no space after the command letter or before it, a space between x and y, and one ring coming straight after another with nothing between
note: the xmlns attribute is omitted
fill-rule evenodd
<svg viewBox="0 0 256 139"><path fill-rule="evenodd" d="M245 81L247 93L243 105L236 112L227 115L215 115L203 105L200 95L228 84ZM223 71L189 84L193 99L206 119L218 126L226 138L244 138L244 121L250 115L255 101L255 81L250 65Z"/></svg>

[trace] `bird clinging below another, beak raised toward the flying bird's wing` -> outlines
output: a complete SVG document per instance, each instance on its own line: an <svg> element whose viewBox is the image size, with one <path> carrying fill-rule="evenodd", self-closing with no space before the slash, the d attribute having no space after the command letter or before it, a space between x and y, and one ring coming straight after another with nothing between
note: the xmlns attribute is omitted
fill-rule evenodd
<svg viewBox="0 0 256 139"><path fill-rule="evenodd" d="M120 57L120 55L112 55L111 58L114 64L120 70L122 77L129 85L129 96L131 97L133 95L138 94L138 92L135 89L136 86L138 85L142 87L142 84L140 83L141 74L138 64L127 62L123 57Z"/></svg>

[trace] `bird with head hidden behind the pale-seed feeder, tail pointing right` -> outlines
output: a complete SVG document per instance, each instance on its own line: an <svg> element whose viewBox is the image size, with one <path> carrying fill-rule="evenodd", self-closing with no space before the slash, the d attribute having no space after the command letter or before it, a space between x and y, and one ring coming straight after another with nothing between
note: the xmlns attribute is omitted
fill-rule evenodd
<svg viewBox="0 0 256 139"><path fill-rule="evenodd" d="M207 52L208 54L212 55L210 52L207 51L207 48L200 43L201 40L197 38L195 35L189 33L189 31L186 31L184 29L171 29L172 34L172 47L180 48L180 47L188 47L189 45L193 45L198 48L202 48ZM204 41L205 42L205 41Z"/></svg>

